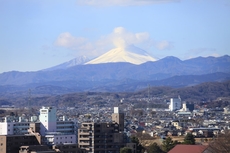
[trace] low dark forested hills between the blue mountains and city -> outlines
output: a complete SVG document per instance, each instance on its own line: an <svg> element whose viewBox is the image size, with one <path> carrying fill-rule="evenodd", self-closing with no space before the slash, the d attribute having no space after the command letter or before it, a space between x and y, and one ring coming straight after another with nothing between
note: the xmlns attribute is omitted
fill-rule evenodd
<svg viewBox="0 0 230 153"><path fill-rule="evenodd" d="M149 87L138 92L78 92L63 95L38 96L1 96L0 105L19 106L60 106L73 107L84 103L102 106L119 102L139 103L150 99L151 102L164 103L180 95L182 101L200 103L230 99L230 81L209 82L184 88Z"/></svg>

